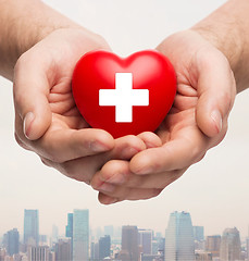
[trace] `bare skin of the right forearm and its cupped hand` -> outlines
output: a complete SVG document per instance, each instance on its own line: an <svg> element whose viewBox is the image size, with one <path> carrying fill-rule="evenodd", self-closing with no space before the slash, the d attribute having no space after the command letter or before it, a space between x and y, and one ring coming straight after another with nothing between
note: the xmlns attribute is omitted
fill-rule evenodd
<svg viewBox="0 0 249 261"><path fill-rule="evenodd" d="M160 194L223 140L235 96L249 86L248 11L247 0L227 1L191 29L159 45L177 74L174 105L157 132L163 145L137 153L130 162L108 162L91 181L97 189L102 183L112 185L112 190L100 191L100 202L139 199L141 195L129 197L138 188Z"/></svg>

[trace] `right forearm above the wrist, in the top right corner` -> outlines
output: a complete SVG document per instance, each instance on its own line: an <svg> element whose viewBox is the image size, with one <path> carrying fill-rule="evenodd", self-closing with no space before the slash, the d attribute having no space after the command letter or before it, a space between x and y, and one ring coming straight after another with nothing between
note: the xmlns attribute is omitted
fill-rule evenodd
<svg viewBox="0 0 249 261"><path fill-rule="evenodd" d="M248 0L231 0L192 27L226 55L235 74L237 92L249 87L248 13Z"/></svg>

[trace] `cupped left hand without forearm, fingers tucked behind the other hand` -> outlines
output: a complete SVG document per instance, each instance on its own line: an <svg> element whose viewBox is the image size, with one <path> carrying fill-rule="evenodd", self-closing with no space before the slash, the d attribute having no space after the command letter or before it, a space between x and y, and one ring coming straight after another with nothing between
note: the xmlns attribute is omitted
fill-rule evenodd
<svg viewBox="0 0 249 261"><path fill-rule="evenodd" d="M71 91L72 73L87 51L110 49L85 29L58 29L16 63L14 75L15 137L49 166L89 183L109 159L130 159L145 145L137 137L114 140L89 128Z"/></svg>

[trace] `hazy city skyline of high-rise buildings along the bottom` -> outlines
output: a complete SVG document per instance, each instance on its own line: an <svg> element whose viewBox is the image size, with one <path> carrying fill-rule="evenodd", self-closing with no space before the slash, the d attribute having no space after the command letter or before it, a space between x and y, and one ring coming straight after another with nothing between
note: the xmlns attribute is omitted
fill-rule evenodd
<svg viewBox="0 0 249 261"><path fill-rule="evenodd" d="M24 210L22 235L13 228L0 235L0 261L248 261L249 237L242 239L236 227L221 235L207 235L191 214L169 214L165 233L148 227L113 225L92 229L89 210L65 213L63 235L57 225L51 235L39 233L39 210Z"/></svg>

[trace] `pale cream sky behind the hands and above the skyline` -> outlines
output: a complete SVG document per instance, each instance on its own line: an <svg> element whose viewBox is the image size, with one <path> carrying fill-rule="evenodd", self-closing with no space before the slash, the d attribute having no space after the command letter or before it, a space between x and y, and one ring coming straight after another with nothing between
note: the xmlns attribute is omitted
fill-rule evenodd
<svg viewBox="0 0 249 261"><path fill-rule="evenodd" d="M102 35L114 52L128 55L154 48L169 35L189 28L223 0L50 0L58 11ZM0 235L23 233L24 209L39 209L40 234L52 225L64 233L66 214L89 209L90 225L137 225L164 233L170 213L188 211L206 235L236 226L242 237L249 224L249 92L237 96L228 133L221 145L191 166L157 198L101 206L97 191L42 165L14 140L12 84L0 78Z"/></svg>

